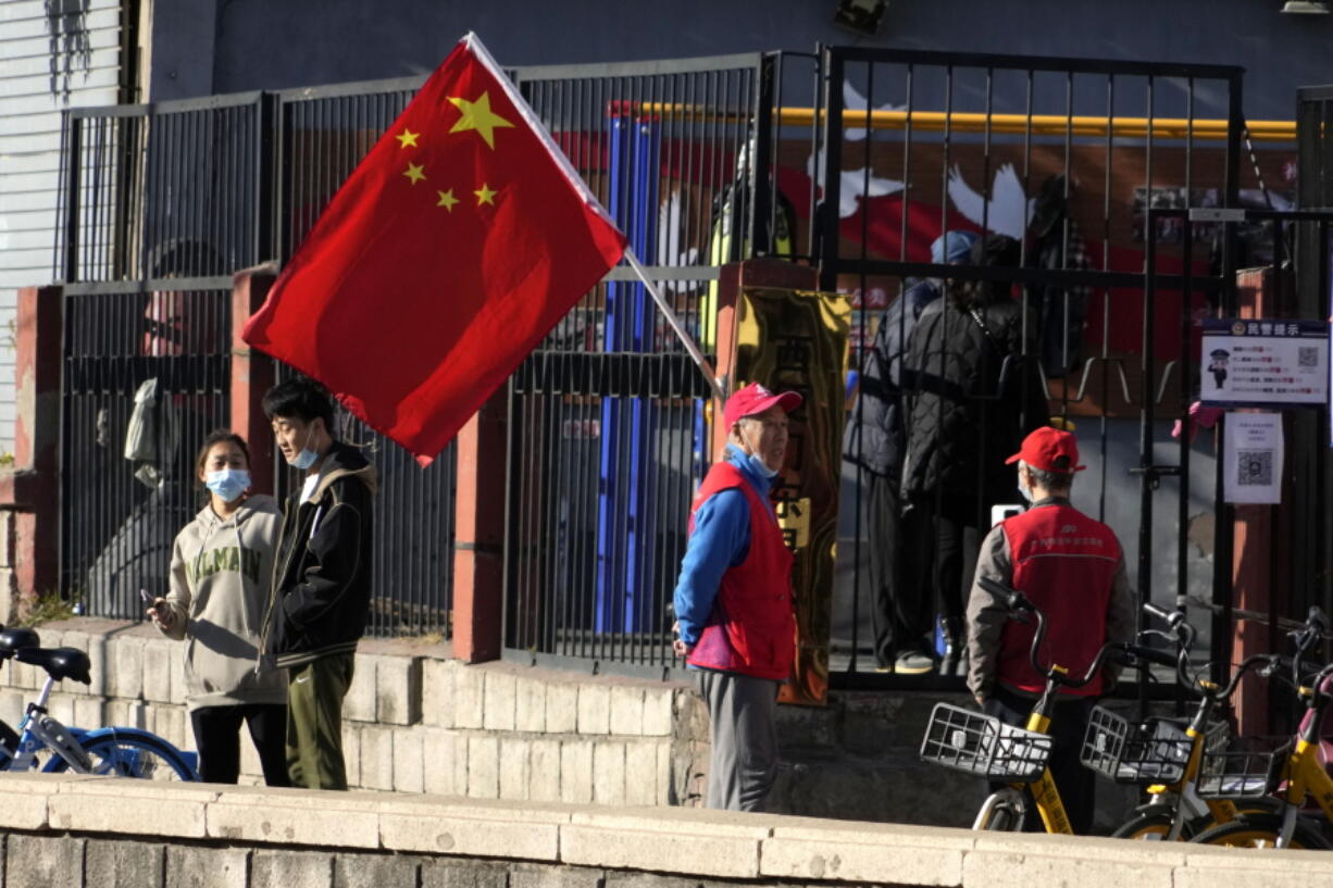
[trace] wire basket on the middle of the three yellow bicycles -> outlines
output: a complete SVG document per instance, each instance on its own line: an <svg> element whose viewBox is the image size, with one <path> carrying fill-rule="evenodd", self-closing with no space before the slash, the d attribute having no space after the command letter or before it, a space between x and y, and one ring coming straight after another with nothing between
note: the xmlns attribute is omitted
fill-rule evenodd
<svg viewBox="0 0 1333 888"><path fill-rule="evenodd" d="M1216 748L1216 732L1225 741L1225 723L1214 723L1205 748ZM1190 739L1180 721L1148 719L1141 724L1097 707L1088 719L1080 759L1084 765L1116 783L1176 783L1189 763Z"/></svg>

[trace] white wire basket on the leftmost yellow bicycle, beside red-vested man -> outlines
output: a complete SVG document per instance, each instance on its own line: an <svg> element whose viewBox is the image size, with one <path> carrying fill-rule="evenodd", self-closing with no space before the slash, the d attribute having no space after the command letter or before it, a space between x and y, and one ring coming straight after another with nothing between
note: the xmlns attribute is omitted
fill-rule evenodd
<svg viewBox="0 0 1333 888"><path fill-rule="evenodd" d="M1050 759L1050 737L993 716L937 703L921 740L921 760L964 773L1032 783Z"/></svg>

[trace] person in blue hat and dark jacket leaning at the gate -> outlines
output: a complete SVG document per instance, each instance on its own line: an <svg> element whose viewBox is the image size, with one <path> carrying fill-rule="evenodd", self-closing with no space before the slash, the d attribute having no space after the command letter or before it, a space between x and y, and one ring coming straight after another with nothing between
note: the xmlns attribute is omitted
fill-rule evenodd
<svg viewBox="0 0 1333 888"><path fill-rule="evenodd" d="M930 261L964 264L977 236L950 231L930 244ZM930 545L917 521L901 515L901 360L917 317L944 292L938 277L918 280L884 311L861 368L860 403L852 411L842 452L866 480L866 536L874 664L880 672L920 675L934 668L930 653L933 599L925 573Z"/></svg>

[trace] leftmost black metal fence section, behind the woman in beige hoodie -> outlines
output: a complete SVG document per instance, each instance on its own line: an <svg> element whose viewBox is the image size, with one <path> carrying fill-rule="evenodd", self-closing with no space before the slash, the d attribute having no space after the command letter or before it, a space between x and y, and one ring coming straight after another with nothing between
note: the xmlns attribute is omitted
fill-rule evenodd
<svg viewBox="0 0 1333 888"><path fill-rule="evenodd" d="M139 619L203 505L195 449L229 421L229 272L260 256L259 120L257 93L65 117L60 583L89 613Z"/></svg>

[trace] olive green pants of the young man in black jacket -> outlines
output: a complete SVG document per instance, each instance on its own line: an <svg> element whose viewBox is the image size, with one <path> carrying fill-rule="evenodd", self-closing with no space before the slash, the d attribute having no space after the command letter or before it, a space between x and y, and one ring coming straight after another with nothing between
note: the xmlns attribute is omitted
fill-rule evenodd
<svg viewBox="0 0 1333 888"><path fill-rule="evenodd" d="M287 772L293 787L347 789L343 697L355 653L335 653L288 671Z"/></svg>

